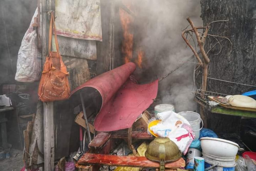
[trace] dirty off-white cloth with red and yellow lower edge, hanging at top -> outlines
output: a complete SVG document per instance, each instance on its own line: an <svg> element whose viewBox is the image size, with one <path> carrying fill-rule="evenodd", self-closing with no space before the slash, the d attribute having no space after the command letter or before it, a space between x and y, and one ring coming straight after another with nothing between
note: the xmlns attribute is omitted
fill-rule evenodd
<svg viewBox="0 0 256 171"><path fill-rule="evenodd" d="M100 0L56 0L57 35L102 41Z"/></svg>

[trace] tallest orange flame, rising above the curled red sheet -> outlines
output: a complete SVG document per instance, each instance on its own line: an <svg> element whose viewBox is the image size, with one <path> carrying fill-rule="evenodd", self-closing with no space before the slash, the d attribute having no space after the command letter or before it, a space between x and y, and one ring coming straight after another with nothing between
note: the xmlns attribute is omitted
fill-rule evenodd
<svg viewBox="0 0 256 171"><path fill-rule="evenodd" d="M124 5L130 9L131 4L127 4L128 1L123 2L126 3ZM125 63L128 63L132 59L132 47L133 47L133 30L131 28L131 24L133 23L133 17L128 14L122 8L119 9L120 20L123 28L123 45L122 52L124 54Z"/></svg>

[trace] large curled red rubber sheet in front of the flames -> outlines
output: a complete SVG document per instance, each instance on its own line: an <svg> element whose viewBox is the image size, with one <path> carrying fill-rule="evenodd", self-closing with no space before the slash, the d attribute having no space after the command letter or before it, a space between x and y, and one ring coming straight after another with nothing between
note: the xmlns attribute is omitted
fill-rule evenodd
<svg viewBox="0 0 256 171"><path fill-rule="evenodd" d="M157 95L158 80L149 84L137 84L130 77L135 68L133 62L126 63L94 77L71 92L72 96L88 87L99 91L102 105L94 120L96 131L130 128L137 117L153 103ZM86 98L86 94L82 95Z"/></svg>

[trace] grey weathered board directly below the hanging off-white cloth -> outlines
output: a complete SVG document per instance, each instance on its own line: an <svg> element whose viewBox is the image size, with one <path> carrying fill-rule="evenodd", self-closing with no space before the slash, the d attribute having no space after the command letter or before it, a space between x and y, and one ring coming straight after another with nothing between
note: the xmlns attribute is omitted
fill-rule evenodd
<svg viewBox="0 0 256 171"><path fill-rule="evenodd" d="M97 60L97 49L95 40L73 39L57 36L60 54L75 58Z"/></svg>

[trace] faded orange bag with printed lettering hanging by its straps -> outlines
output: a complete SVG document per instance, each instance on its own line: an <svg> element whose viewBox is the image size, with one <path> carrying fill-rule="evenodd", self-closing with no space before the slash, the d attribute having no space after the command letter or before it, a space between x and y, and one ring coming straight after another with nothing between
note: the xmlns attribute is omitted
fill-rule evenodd
<svg viewBox="0 0 256 171"><path fill-rule="evenodd" d="M52 25L54 26L54 38L57 52L51 51ZM68 82L69 73L59 53L53 13L51 13L48 52L49 54L46 56L44 70L38 88L39 99L43 102L68 99L70 93Z"/></svg>

